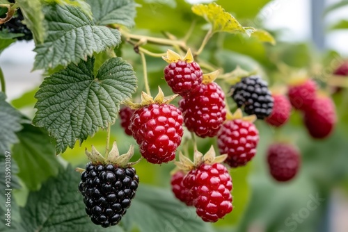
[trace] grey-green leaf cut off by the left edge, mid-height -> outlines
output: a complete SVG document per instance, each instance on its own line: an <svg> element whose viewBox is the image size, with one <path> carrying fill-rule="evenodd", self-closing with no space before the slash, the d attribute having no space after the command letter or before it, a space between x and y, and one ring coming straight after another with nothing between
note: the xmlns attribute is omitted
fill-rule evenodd
<svg viewBox="0 0 348 232"><path fill-rule="evenodd" d="M18 142L15 133L22 129L22 115L5 100L6 95L0 92L0 154L10 151L10 146Z"/></svg>

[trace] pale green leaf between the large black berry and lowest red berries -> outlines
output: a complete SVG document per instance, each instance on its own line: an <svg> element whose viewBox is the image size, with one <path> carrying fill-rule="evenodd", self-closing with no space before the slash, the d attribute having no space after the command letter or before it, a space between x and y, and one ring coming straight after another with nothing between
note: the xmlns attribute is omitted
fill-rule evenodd
<svg viewBox="0 0 348 232"><path fill-rule="evenodd" d="M214 231L211 224L197 217L194 208L180 203L170 190L150 185L139 185L132 205L122 218L122 226L126 231L136 226L140 232Z"/></svg>

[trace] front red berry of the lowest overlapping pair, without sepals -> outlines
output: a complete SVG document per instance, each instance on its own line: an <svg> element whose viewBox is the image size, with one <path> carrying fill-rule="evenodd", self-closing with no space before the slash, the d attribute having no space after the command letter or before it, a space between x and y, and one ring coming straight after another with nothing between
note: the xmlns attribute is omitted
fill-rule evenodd
<svg viewBox="0 0 348 232"><path fill-rule="evenodd" d="M220 163L200 165L196 172L193 205L205 222L217 222L232 211L232 180L228 169Z"/></svg>

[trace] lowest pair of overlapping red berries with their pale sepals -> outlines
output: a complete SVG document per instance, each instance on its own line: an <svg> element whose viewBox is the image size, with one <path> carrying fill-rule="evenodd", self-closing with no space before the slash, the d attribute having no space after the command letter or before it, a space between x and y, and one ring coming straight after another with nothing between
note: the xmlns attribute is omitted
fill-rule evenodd
<svg viewBox="0 0 348 232"><path fill-rule="evenodd" d="M217 222L232 211L232 179L228 169L219 163L226 155L215 158L213 148L205 156L195 152L196 165L187 164L187 158L181 155L177 165L185 170L189 167L189 171L187 174L179 171L172 176L172 190L177 199L187 206L194 206L203 221ZM205 159L208 156L211 157Z"/></svg>

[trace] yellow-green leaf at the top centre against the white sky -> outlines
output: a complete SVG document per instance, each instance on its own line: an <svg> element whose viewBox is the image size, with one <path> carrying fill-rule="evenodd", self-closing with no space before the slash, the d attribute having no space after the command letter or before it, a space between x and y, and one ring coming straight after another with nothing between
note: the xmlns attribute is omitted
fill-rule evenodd
<svg viewBox="0 0 348 232"><path fill-rule="evenodd" d="M255 31L252 27L244 27L239 24L235 17L216 3L194 5L192 6L192 11L212 24L212 33L225 31L229 33L243 33L251 36L253 31Z"/></svg>

